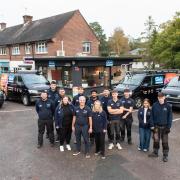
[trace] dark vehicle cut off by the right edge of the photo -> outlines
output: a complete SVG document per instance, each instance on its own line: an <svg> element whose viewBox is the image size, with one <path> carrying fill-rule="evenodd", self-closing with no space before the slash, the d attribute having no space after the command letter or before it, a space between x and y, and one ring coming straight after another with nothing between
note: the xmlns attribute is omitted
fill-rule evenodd
<svg viewBox="0 0 180 180"><path fill-rule="evenodd" d="M168 103L180 107L180 75L177 75L162 89Z"/></svg>

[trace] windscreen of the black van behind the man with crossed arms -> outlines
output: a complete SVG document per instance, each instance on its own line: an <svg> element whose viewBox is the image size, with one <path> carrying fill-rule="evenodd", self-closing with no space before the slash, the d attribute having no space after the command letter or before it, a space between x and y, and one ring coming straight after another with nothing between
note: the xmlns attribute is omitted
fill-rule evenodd
<svg viewBox="0 0 180 180"><path fill-rule="evenodd" d="M121 81L124 85L134 85L139 86L144 79L142 74L126 75L125 78Z"/></svg>

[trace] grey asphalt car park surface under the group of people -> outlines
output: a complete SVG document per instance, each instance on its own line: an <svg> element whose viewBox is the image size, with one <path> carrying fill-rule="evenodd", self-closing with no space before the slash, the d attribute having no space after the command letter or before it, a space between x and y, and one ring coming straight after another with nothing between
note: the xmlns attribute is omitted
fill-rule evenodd
<svg viewBox="0 0 180 180"><path fill-rule="evenodd" d="M133 145L123 143L123 150L106 150L105 160L95 157L92 148L91 158L85 159L83 153L78 157L61 153L58 144L52 148L46 139L43 148L37 149L34 107L7 101L0 109L0 180L179 180L180 110L173 114L168 163L162 162L162 153L150 159L148 153L137 150L137 112L133 113Z"/></svg>

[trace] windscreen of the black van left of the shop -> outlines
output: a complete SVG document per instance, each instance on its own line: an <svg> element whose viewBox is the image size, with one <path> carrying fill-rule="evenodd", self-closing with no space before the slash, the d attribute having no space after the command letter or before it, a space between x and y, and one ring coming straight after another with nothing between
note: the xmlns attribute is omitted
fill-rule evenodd
<svg viewBox="0 0 180 180"><path fill-rule="evenodd" d="M25 84L47 84L48 81L42 75L38 74L23 74L22 76Z"/></svg>

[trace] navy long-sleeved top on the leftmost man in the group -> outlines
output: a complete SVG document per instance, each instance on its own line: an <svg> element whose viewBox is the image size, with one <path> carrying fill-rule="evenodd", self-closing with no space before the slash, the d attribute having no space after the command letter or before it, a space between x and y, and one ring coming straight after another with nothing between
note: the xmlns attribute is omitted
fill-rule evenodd
<svg viewBox="0 0 180 180"><path fill-rule="evenodd" d="M54 110L54 103L50 99L46 101L40 99L36 102L36 112L39 120L53 120Z"/></svg>

